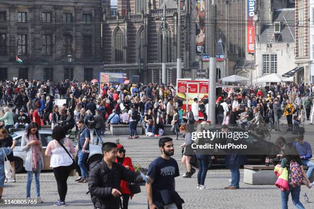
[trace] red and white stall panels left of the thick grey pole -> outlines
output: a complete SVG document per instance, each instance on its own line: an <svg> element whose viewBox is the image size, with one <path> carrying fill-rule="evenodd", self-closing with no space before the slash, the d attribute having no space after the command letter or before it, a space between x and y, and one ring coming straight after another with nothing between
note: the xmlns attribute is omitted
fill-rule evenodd
<svg viewBox="0 0 314 209"><path fill-rule="evenodd" d="M178 79L177 80L177 95L183 99L182 110L184 117L186 108L191 107L194 102L194 98L198 98L199 102L202 102L204 98L208 98L208 80L189 80L189 79ZM200 118L203 118L203 113L199 112Z"/></svg>

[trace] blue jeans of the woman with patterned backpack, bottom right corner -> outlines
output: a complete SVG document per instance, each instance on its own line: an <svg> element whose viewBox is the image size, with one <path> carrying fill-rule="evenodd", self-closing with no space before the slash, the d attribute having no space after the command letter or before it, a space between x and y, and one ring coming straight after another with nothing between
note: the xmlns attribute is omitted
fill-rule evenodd
<svg viewBox="0 0 314 209"><path fill-rule="evenodd" d="M288 200L290 192L293 204L295 204L296 207L299 209L304 208L303 204L300 202L301 185L297 187L289 185L289 191L281 191L281 208L288 209Z"/></svg>

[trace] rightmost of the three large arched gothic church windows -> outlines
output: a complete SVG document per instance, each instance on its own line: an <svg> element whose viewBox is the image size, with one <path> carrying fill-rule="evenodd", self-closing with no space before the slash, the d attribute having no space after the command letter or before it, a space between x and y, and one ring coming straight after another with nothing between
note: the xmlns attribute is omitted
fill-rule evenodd
<svg viewBox="0 0 314 209"><path fill-rule="evenodd" d="M165 43L163 41L163 33L165 32ZM171 41L171 30L168 25L166 25L165 29L163 26L161 26L159 31L159 54L161 57L161 62L163 62L163 54L166 54L166 62L172 62L172 41ZM165 51L164 51L164 46Z"/></svg>

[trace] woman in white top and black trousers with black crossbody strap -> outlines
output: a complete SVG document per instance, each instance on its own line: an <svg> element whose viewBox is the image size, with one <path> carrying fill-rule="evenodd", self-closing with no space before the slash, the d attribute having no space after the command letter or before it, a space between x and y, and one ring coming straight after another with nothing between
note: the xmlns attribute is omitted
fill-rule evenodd
<svg viewBox="0 0 314 209"><path fill-rule="evenodd" d="M71 173L72 157L61 146L61 143L69 153L74 154L75 149L72 141L66 138L66 132L61 126L56 126L52 130L52 138L46 149L46 156L50 156L50 167L53 168L55 180L57 182L60 199L54 204L55 206L64 206L65 197L68 190L67 180Z"/></svg>

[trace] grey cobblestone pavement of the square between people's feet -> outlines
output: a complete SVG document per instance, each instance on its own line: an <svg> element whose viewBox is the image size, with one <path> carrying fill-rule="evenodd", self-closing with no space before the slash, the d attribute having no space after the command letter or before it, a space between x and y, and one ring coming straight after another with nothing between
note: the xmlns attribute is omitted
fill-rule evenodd
<svg viewBox="0 0 314 209"><path fill-rule="evenodd" d="M127 155L133 160L133 163L140 163L144 168L156 157L160 155L158 149L158 139L144 138L128 140L126 136L105 136L105 141L115 141L117 138L124 144ZM175 155L174 159L180 163L181 152L180 144L183 141L174 140ZM180 172L184 173L184 167L180 165ZM205 184L209 190L197 190L197 176L193 175L191 179L182 177L176 178L176 190L185 200L183 208L205 209L205 208L280 208L280 190L274 185L249 185L243 183L243 170L241 170L241 190L223 190L224 186L229 185L231 174L223 166L209 170ZM75 177L68 180L68 194L66 198L67 208L92 208L87 184L74 182ZM147 208L147 197L145 187L142 186L142 193L136 194L129 202L130 209ZM6 183L4 187L3 198L25 198L26 196L26 174L19 174L16 183ZM304 203L303 195L307 193L310 203L305 203L306 208L314 208L314 188L307 189L302 186L301 202ZM32 184L32 197L34 197L34 182ZM51 172L45 172L41 175L41 197L44 203L36 205L1 205L0 207L10 208L54 208L52 205L58 198L56 182ZM289 207L293 208L291 197Z"/></svg>

